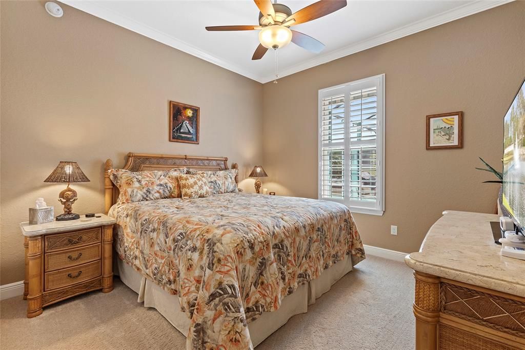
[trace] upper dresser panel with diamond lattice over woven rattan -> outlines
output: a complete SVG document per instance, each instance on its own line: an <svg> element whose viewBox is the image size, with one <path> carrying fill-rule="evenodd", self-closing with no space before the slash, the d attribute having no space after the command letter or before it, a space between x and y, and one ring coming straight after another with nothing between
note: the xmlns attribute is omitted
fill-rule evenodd
<svg viewBox="0 0 525 350"><path fill-rule="evenodd" d="M525 339L525 303L441 283L441 312Z"/></svg>

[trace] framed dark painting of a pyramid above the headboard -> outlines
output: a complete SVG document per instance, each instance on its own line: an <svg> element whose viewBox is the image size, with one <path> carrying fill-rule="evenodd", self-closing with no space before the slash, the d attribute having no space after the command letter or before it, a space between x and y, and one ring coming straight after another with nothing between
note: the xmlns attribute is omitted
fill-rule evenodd
<svg viewBox="0 0 525 350"><path fill-rule="evenodd" d="M199 108L170 101L171 142L198 143Z"/></svg>

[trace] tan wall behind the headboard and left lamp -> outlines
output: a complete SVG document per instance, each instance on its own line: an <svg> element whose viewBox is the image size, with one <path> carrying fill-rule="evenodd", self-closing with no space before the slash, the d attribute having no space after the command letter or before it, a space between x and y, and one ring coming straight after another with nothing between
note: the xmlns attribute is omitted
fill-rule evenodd
<svg viewBox="0 0 525 350"><path fill-rule="evenodd" d="M73 185L78 213L103 209L102 163L123 166L129 151L226 156L241 179L262 160L261 84L65 5L51 17L44 3L2 2L0 284L24 278L18 223L35 198L61 213L65 185L43 182L59 160L91 180ZM169 100L201 107L200 145L167 141Z"/></svg>

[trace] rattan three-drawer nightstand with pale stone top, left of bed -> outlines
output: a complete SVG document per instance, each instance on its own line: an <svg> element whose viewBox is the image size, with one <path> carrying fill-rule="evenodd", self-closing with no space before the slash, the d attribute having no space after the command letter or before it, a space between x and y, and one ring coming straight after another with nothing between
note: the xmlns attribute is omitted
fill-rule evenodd
<svg viewBox="0 0 525 350"><path fill-rule="evenodd" d="M113 290L113 224L100 218L20 223L24 235L24 300L27 317L42 308L78 294Z"/></svg>

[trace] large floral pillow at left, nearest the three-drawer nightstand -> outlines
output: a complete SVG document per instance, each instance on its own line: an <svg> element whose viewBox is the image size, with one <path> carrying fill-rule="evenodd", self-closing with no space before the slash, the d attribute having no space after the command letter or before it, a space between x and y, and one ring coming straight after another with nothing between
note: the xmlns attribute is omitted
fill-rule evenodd
<svg viewBox="0 0 525 350"><path fill-rule="evenodd" d="M123 169L108 170L109 178L119 188L119 202L130 203L150 201L155 199L174 198L177 191L180 197L180 187L176 180L177 174L186 169L167 171L129 171Z"/></svg>

